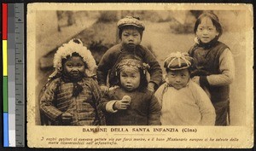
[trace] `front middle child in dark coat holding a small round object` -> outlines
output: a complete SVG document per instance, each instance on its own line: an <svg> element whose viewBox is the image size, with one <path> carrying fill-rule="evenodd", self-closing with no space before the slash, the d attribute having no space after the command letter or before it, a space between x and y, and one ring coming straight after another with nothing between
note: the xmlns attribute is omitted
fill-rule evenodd
<svg viewBox="0 0 256 151"><path fill-rule="evenodd" d="M107 125L160 125L160 105L147 89L146 70L142 61L125 59L116 67L118 86L102 99Z"/></svg>

